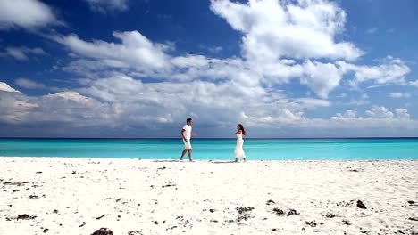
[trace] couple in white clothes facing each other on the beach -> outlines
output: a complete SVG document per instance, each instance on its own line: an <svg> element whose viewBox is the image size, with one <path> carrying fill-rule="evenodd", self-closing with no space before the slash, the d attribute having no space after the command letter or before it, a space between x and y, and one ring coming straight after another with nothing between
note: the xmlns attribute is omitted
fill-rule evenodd
<svg viewBox="0 0 418 235"><path fill-rule="evenodd" d="M196 133L192 132L192 126L193 125L193 120L192 118L188 118L186 120L186 125L183 126L183 128L181 129L181 137L183 138L183 142L184 142L184 150L181 153L181 157L180 157L180 161L183 160L184 155L186 155L186 153L188 153L188 160L192 161L191 158L191 143L190 143L190 138L193 135L196 135ZM237 132L235 133L235 135L237 136L237 146L235 147L235 162L238 162L238 158L242 158L244 160L244 162L246 161L246 153L244 152L244 149L242 148L244 145L244 140L242 139L243 135L246 135L246 130L244 129L244 126L242 126L241 124L238 124L237 126Z"/></svg>

